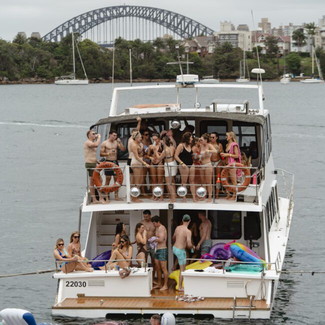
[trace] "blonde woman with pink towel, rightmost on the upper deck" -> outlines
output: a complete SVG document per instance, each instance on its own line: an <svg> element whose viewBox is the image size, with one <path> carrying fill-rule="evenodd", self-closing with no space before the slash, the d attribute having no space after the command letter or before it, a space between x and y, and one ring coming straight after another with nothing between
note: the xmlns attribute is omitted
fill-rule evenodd
<svg viewBox="0 0 325 325"><path fill-rule="evenodd" d="M240 157L240 149L239 145L236 140L236 134L233 131L229 131L225 133L225 138L228 141L225 152L221 153L221 156L224 157L225 163L233 163L233 162L239 162L241 163L241 157ZM237 185L237 178L241 176L241 170L237 168L230 168L229 176L232 185ZM230 195L229 192L227 192L227 196L225 197L228 200L235 200L236 194L235 192Z"/></svg>

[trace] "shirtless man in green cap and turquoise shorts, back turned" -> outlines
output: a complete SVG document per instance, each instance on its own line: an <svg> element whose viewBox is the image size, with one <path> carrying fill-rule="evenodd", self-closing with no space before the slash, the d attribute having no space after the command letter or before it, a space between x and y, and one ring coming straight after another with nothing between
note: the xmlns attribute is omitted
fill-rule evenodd
<svg viewBox="0 0 325 325"><path fill-rule="evenodd" d="M183 223L178 225L175 229L175 232L172 236L172 241L174 241L174 245L172 246L172 252L178 258L179 264L179 279L178 279L178 291L184 291L182 287L183 284L183 276L181 272L185 270L186 265L186 244L188 248L195 249L195 246L192 244L191 231L187 228L190 222L190 216L188 214L183 215Z"/></svg>

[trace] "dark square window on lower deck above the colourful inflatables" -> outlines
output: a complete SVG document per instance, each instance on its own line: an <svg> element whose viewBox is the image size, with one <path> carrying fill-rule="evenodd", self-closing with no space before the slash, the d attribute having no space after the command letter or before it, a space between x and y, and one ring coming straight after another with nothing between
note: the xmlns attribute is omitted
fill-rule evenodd
<svg viewBox="0 0 325 325"><path fill-rule="evenodd" d="M241 211L209 210L211 239L239 239L241 237Z"/></svg>

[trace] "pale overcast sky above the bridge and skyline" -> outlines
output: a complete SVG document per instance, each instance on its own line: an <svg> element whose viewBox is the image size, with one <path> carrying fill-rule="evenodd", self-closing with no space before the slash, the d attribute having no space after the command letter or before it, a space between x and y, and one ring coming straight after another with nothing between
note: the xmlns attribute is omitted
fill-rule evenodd
<svg viewBox="0 0 325 325"><path fill-rule="evenodd" d="M268 17L271 27L314 21L325 15L325 0L0 0L0 38L12 40L18 31L27 37L32 31L43 36L66 20L89 10L113 5L143 5L167 9L220 29L220 21L235 26L254 23Z"/></svg>

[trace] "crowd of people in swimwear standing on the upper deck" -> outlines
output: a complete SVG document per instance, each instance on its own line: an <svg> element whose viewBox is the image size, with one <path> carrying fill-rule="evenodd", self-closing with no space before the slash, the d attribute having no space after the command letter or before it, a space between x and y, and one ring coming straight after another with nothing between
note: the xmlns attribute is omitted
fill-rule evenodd
<svg viewBox="0 0 325 325"><path fill-rule="evenodd" d="M142 126L142 128L141 128ZM205 200L212 201L213 175L220 174L222 166L239 162L250 166L244 152L240 152L236 135L233 131L226 132L226 146L223 148L219 142L217 132L204 133L200 137L193 137L194 126L186 124L183 130L170 128L160 133L152 131L147 127L143 128L141 118L137 117L137 126L131 130L131 136L127 140L128 159L130 166L130 183L135 186L141 186L142 196L148 196L146 176L149 173L149 183L151 188L163 184L166 185L169 201L175 202L176 188L175 175L179 171L181 184L189 183L192 200L197 202ZM93 168L99 161L96 159L96 148L100 143L100 134L93 130L87 132L87 140L84 142L85 167L88 170L89 188L93 203L109 203L107 192L103 195L100 191L99 200L94 195L92 182ZM125 146L117 137L117 132L113 129L109 131L109 136L100 144L100 156L105 161L110 161L118 166L117 150L125 151ZM213 170L214 169L214 170ZM114 178L113 169L106 169L105 185L109 185L111 178ZM229 178L233 185L237 184L237 176L240 176L240 170L233 168L229 172ZM196 188L198 184L203 184L207 190L207 197L198 197ZM151 190L152 192L152 190ZM219 188L215 188L215 198L219 196ZM118 197L118 190L114 192L115 200L121 200ZM152 200L163 200L163 194L159 197L154 196ZM234 200L235 194L228 193L226 199ZM131 197L133 202L142 202L138 197ZM183 196L186 201L186 196Z"/></svg>

